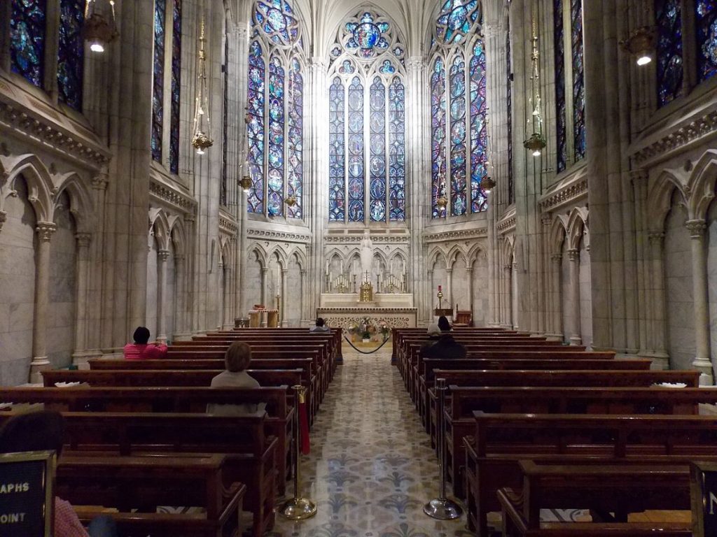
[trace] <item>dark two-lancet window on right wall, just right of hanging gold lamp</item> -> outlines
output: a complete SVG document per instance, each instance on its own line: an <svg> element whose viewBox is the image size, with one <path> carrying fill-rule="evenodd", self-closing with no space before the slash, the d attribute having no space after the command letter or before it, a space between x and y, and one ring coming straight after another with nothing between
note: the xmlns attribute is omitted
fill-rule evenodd
<svg viewBox="0 0 717 537"><path fill-rule="evenodd" d="M582 0L553 1L556 168L585 157L585 74Z"/></svg>

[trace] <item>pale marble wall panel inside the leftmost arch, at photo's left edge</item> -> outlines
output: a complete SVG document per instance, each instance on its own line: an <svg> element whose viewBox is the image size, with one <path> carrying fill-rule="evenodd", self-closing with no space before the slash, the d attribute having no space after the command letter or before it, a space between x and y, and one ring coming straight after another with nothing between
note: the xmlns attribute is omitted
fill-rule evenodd
<svg viewBox="0 0 717 537"><path fill-rule="evenodd" d="M16 180L16 197L5 200L0 232L0 384L27 382L32 360L35 294L35 214L27 187Z"/></svg>

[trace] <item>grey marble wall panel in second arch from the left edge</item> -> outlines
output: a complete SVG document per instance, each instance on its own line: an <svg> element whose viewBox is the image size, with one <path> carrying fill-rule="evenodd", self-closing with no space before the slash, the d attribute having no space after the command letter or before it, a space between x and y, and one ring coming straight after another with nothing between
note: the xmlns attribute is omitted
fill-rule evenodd
<svg viewBox="0 0 717 537"><path fill-rule="evenodd" d="M57 231L52 236L49 255L47 358L53 367L62 367L72 362L75 349L77 247L67 193L62 193L57 203L54 211Z"/></svg>

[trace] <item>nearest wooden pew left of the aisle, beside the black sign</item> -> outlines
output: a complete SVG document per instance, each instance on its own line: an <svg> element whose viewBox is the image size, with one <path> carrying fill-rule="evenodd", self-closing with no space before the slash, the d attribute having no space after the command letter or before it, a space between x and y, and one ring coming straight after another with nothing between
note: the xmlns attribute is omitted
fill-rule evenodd
<svg viewBox="0 0 717 537"><path fill-rule="evenodd" d="M179 454L178 454L179 455ZM226 455L103 457L63 455L55 492L74 505L116 508L107 513L123 535L241 536L246 485L224 478ZM161 505L204 508L204 515L158 513ZM75 508L88 522L97 511Z"/></svg>

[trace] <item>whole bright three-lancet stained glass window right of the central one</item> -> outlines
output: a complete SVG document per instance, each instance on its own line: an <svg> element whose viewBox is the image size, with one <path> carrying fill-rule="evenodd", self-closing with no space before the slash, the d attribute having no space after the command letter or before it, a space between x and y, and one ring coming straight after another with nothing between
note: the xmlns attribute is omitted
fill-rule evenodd
<svg viewBox="0 0 717 537"><path fill-rule="evenodd" d="M431 40L432 216L488 209L485 47L478 0L447 0ZM445 203L443 203L445 202Z"/></svg>

